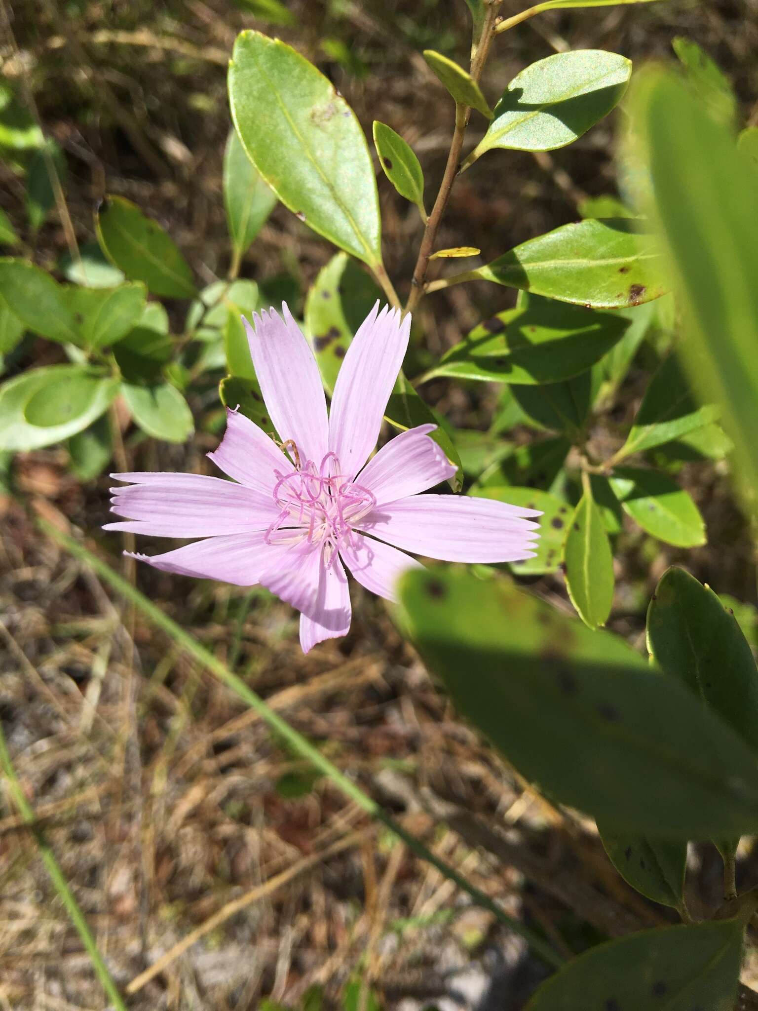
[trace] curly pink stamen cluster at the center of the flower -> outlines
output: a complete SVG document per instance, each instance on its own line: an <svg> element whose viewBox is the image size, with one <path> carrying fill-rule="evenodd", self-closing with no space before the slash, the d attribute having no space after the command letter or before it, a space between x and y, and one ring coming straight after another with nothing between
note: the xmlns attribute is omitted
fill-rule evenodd
<svg viewBox="0 0 758 1011"><path fill-rule="evenodd" d="M341 474L336 453L327 453L316 467L302 460L289 440L295 470L276 470L274 501L279 516L266 531L267 544L312 544L323 550L328 565L341 548L356 547L353 527L376 505L376 497L360 484Z"/></svg>

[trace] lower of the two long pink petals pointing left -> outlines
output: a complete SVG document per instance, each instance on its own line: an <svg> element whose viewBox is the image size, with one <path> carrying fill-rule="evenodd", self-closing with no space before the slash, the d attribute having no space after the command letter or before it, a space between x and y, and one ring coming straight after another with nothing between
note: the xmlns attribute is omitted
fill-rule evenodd
<svg viewBox="0 0 758 1011"><path fill-rule="evenodd" d="M204 541L186 544L183 548L166 551L161 555L141 555L124 552L131 558L147 562L162 572L191 575L199 579L218 579L235 586L254 586L261 575L282 554L277 545L267 544L265 533L231 534L209 537Z"/></svg>

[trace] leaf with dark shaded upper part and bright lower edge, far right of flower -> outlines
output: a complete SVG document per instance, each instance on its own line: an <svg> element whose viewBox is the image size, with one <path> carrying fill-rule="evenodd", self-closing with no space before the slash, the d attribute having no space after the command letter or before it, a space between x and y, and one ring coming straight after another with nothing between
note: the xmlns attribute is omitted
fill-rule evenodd
<svg viewBox="0 0 758 1011"><path fill-rule="evenodd" d="M635 423L615 459L623 460L633 453L679 439L717 421L719 413L715 404L695 403L676 355L671 354L650 380Z"/></svg>

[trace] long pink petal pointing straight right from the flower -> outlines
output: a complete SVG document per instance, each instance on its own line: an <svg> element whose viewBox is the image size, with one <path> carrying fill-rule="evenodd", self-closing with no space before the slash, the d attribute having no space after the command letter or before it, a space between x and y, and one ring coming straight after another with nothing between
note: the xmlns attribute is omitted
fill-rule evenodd
<svg viewBox="0 0 758 1011"><path fill-rule="evenodd" d="M536 510L468 495L414 495L372 510L359 524L405 551L448 562L514 562L534 557Z"/></svg>

